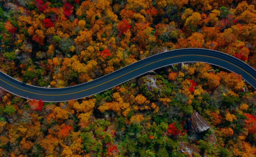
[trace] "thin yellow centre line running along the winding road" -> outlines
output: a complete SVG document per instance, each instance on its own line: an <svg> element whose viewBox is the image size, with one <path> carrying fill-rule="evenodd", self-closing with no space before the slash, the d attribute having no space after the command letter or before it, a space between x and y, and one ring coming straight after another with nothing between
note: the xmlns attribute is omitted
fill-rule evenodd
<svg viewBox="0 0 256 157"><path fill-rule="evenodd" d="M181 56L175 56L175 57L182 57L182 56L204 56L204 57L211 57L211 56L198 55L198 54L187 54L187 55L181 55ZM160 61L162 61L162 60L166 60L166 59L170 59L170 58L175 58L175 57L168 57L168 58L164 58L164 59L157 60L157 61L155 61L155 62L152 62L152 63L149 63L149 64L147 64L147 65L141 66L140 68L137 68L137 69L135 69L135 70L132 70L132 71L130 71L130 72L127 72L127 73L125 73L125 74L123 74L123 75L121 75L121 76L118 76L118 77L116 77L116 78L114 78L114 79L112 79L112 80L109 80L109 81L107 81L107 82L101 83L101 84L99 84L99 85L97 85L97 86L94 86L94 87L91 87L91 88L88 88L88 89L84 89L84 90L82 90L82 91L73 92L73 93L67 93L67 94L40 94L40 93L29 92L29 91L26 91L26 90L24 90L24 89L15 87L15 86L11 85L10 83L5 82L5 81L2 80L2 79L0 79L0 80L3 81L3 82L5 82L5 83L7 83L8 85L10 85L10 86L12 86L12 87L15 87L15 88L17 88L17 89L19 89L19 90L22 90L22 91L25 91L25 92L28 92L28 93L33 93L33 94L38 94L38 95L47 95L47 96L69 95L69 94L75 94L75 93L84 92L84 91L87 91L87 90L89 90L89 89L92 89L92 88L101 86L101 85L103 85L103 84L105 84L105 83L108 83L108 82L110 82L110 81L113 81L113 80L115 80L115 79L118 79L119 77L122 77L122 76L124 76L124 75L127 75L127 74L129 74L129 73L131 73L131 72L133 72L133 71L136 71L136 70L138 70L138 69L141 69L141 68L143 68L143 67L145 67L145 66L148 66L148 65L150 65L150 64L154 64L154 63L160 62ZM211 57L211 58L220 59L220 58L216 58L216 57ZM220 60L223 60L223 59L220 59ZM227 62L227 63L229 63L229 64L232 64L232 65L236 66L237 68L241 69L239 66L237 66L237 65L235 65L235 64L233 64L233 63L230 63L230 62L228 62L228 61L226 61L226 60L223 60L223 61L224 61L224 62ZM175 64L175 63L173 63L173 64ZM241 69L241 70L243 70L243 69ZM245 70L243 70L243 71L246 72ZM248 75L250 75L248 72L246 72L246 73L247 73ZM251 76L251 75L250 75L250 76ZM253 76L251 76L251 77L254 78ZM256 80L256 79L254 78L254 80Z"/></svg>

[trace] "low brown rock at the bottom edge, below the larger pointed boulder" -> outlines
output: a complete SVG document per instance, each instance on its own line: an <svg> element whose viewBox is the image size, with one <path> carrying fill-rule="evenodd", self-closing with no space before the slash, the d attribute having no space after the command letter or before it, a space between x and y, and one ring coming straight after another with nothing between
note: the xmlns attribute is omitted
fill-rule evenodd
<svg viewBox="0 0 256 157"><path fill-rule="evenodd" d="M192 153L199 154L200 149L196 145L188 142L179 142L178 151L182 153L187 152L190 156L192 156Z"/></svg>

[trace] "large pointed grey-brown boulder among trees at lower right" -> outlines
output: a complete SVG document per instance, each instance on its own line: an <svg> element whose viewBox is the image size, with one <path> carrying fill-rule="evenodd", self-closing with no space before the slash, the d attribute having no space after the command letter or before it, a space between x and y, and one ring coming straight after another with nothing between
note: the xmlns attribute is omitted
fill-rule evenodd
<svg viewBox="0 0 256 157"><path fill-rule="evenodd" d="M210 128L210 125L204 120L204 118L194 111L191 115L191 127L195 132L202 133Z"/></svg>

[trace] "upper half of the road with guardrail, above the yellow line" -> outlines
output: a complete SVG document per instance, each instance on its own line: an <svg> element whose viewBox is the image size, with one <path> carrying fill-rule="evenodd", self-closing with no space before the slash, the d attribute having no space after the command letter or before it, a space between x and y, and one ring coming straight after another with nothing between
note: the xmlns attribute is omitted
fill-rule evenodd
<svg viewBox="0 0 256 157"><path fill-rule="evenodd" d="M64 87L64 88L44 88L44 87L32 86L32 85L28 85L28 84L25 84L23 82L18 81L16 79L14 79L13 77L8 76L4 72L0 72L1 73L0 75L5 77L6 79L12 81L12 82L15 82L15 83L17 83L19 85L22 85L24 87L28 87L30 89L36 89L36 90L39 90L39 91L66 91L66 90L70 90L70 89L84 87L84 86L90 85L92 83L101 81L103 79L107 79L110 76L119 74L120 72L131 69L131 68L133 68L137 65L140 65L140 64L143 65L143 63L149 62L150 60L157 60L157 59L160 59L160 58L164 58L166 56L171 57L171 56L184 55L184 54L192 54L192 55L195 54L195 55L204 55L204 56L210 56L210 57L217 57L217 58L226 60L228 62L231 62L231 63L239 66L242 69L246 69L247 72L249 72L254 78L256 78L255 69L253 69L250 65L246 64L245 62L243 62L243 61L241 61L241 60L239 60L239 59L237 59L233 56L230 56L228 54L222 53L222 52L218 52L218 51L214 51L214 50L208 50L208 49L201 49L201 48L185 48L185 49L178 49L178 50L172 50L172 51L167 51L167 52L163 52L163 53L158 53L158 54L155 54L153 56L150 56L150 57L144 58L142 60L139 60L135 63L130 64L130 65L127 65L127 66L125 66L125 67L123 67L119 70L111 72L110 74L104 75L104 76L99 77L98 79L92 80L90 82L86 82L86 83L82 83L80 85L75 85L75 86L70 86L70 87Z"/></svg>

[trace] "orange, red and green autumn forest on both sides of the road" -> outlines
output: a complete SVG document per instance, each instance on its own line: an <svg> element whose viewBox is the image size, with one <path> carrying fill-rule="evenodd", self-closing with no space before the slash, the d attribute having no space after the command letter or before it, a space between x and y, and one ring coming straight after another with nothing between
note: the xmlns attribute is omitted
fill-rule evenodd
<svg viewBox="0 0 256 157"><path fill-rule="evenodd" d="M0 0L0 70L78 85L140 59L207 48L256 69L254 0ZM46 103L0 89L0 157L254 157L256 91L206 63L166 66Z"/></svg>

